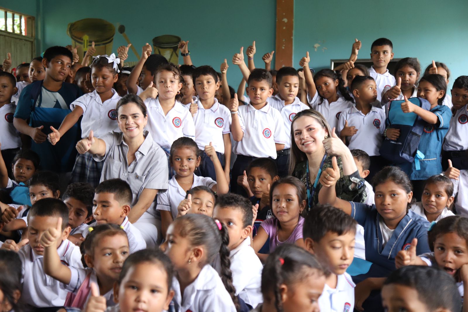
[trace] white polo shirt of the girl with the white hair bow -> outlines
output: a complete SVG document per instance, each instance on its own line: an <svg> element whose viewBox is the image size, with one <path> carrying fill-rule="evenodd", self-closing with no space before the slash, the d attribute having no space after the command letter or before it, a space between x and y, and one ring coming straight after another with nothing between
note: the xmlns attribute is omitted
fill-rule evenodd
<svg viewBox="0 0 468 312"><path fill-rule="evenodd" d="M81 138L86 138L89 132L93 130L94 136L100 138L102 135L112 131L120 132L117 124L117 102L121 99L112 89L112 97L104 103L96 90L87 93L70 104L73 110L76 106L83 109L83 118L81 119Z"/></svg>

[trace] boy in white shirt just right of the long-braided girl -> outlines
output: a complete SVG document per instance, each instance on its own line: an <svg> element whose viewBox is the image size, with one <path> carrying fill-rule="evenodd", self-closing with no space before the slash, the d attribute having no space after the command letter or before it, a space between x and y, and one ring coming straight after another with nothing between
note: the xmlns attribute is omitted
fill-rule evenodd
<svg viewBox="0 0 468 312"><path fill-rule="evenodd" d="M263 266L250 247L252 204L248 199L237 194L221 195L216 202L213 218L223 223L229 233L228 248L235 294L248 305L247 311L250 311L263 302L260 292ZM221 273L219 257L215 258L213 267Z"/></svg>

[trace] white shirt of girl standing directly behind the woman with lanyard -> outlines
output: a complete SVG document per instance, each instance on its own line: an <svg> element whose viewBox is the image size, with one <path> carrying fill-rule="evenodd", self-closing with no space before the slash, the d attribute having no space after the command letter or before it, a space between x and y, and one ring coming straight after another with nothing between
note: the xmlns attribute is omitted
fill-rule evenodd
<svg viewBox="0 0 468 312"><path fill-rule="evenodd" d="M323 99L322 104L319 104L321 97L319 92L315 92L314 98L310 98L310 95L307 93L307 101L310 104L312 109L319 111L325 119L327 119L330 129L333 130L333 127L338 128L338 120L343 111L347 110L350 107L354 106L354 103L347 101L344 97L340 96L336 102L328 103L327 99Z"/></svg>

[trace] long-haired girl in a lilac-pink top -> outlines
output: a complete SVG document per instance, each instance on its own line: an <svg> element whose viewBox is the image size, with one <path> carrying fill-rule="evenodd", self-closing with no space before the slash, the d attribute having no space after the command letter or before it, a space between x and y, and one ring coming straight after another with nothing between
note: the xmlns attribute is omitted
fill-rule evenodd
<svg viewBox="0 0 468 312"><path fill-rule="evenodd" d="M270 189L270 202L274 217L263 221L253 238L252 247L260 260L265 261L268 256L258 253L268 238L270 238L270 253L284 243L304 246L302 238L304 218L300 214L306 208L306 198L306 187L298 178L285 177L273 183Z"/></svg>

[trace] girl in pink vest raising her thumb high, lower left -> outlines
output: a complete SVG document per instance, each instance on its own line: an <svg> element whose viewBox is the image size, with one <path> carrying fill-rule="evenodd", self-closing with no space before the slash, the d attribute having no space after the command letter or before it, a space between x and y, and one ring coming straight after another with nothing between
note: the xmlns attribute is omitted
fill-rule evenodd
<svg viewBox="0 0 468 312"><path fill-rule="evenodd" d="M125 231L110 223L89 228L89 234L80 246L81 262L85 267L82 268L60 262L55 248L61 236L60 225L61 222L45 231L39 242L44 246L44 273L59 281L62 290L69 291L65 306L83 309L91 297L91 283L99 285L99 293L106 298L107 306L115 305L113 286L129 255Z"/></svg>

